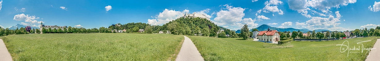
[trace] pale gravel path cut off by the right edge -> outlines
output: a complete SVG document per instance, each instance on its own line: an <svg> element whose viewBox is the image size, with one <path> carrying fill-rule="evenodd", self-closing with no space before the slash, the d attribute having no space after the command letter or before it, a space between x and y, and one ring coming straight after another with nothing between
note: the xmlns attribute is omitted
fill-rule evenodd
<svg viewBox="0 0 380 61"><path fill-rule="evenodd" d="M366 61L379 61L380 60L380 39L377 39L373 49L369 52Z"/></svg>

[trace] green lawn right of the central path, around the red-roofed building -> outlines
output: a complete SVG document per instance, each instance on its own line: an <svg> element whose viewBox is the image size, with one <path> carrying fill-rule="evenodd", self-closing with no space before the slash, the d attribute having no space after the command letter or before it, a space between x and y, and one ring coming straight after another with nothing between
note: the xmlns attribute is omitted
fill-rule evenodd
<svg viewBox="0 0 380 61"><path fill-rule="evenodd" d="M350 51L359 53L340 52L340 46L348 40L350 48L361 46L372 48L377 37L331 40L322 42L290 42L285 48L267 48L275 44L239 40L241 38L214 38L201 36L188 36L206 61L364 61L368 55L366 51ZM347 45L347 43L345 43ZM277 47L275 46L275 47ZM362 47L362 46L361 46Z"/></svg>

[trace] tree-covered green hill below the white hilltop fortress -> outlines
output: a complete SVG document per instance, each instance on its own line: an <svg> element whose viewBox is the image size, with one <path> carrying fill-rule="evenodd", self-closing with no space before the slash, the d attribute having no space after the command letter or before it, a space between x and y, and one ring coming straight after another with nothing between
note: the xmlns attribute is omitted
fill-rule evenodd
<svg viewBox="0 0 380 61"><path fill-rule="evenodd" d="M219 31L219 27L213 22L204 18L178 18L174 21L170 21L163 27L169 30L171 34L182 35L194 35L204 34L207 36L216 36L216 32ZM203 31L204 33L202 33ZM201 33L198 33L201 32Z"/></svg>

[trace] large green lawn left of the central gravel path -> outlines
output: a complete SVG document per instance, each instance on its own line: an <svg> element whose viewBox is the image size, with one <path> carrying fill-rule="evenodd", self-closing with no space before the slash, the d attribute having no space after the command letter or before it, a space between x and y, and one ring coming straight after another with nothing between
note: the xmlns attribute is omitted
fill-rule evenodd
<svg viewBox="0 0 380 61"><path fill-rule="evenodd" d="M20 34L2 39L14 61L166 61L175 60L184 36Z"/></svg>

